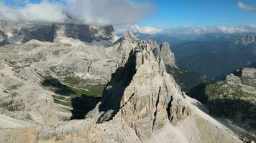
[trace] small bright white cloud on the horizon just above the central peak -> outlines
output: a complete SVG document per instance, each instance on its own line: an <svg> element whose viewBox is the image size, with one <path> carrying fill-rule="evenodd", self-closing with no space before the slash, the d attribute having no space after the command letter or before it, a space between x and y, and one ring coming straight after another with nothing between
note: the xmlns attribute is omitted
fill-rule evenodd
<svg viewBox="0 0 256 143"><path fill-rule="evenodd" d="M124 33L124 31L132 31L133 33L140 33L140 34L158 34L162 32L162 29L156 29L150 26L124 26L122 28L117 28L116 33Z"/></svg>

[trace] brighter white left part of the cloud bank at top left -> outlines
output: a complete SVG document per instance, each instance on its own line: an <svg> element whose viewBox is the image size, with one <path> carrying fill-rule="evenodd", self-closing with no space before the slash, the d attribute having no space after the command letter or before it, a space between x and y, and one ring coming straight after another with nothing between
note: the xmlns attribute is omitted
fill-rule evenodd
<svg viewBox="0 0 256 143"><path fill-rule="evenodd" d="M63 23L65 19L67 16L63 14L63 6L60 4L42 1L40 4L10 8L0 2L0 20Z"/></svg>

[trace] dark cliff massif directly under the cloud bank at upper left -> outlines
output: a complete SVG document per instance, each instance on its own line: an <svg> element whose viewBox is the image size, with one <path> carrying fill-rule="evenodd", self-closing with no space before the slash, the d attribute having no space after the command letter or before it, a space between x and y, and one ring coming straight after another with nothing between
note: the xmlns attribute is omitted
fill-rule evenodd
<svg viewBox="0 0 256 143"><path fill-rule="evenodd" d="M6 35L6 38L8 38L12 44L24 44L32 39L60 42L67 38L71 38L92 42L114 38L113 26L30 24L5 21L0 21L0 23L0 31Z"/></svg>

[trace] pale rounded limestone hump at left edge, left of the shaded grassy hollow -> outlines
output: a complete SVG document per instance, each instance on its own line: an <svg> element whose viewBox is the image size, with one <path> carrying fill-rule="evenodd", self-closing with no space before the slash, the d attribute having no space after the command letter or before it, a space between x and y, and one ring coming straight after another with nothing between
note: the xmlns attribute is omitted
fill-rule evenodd
<svg viewBox="0 0 256 143"><path fill-rule="evenodd" d="M24 80L9 65L3 65L6 67L0 69L0 114L39 124L55 124L57 117L51 93L42 89L37 79ZM36 74L30 69L20 72Z"/></svg>

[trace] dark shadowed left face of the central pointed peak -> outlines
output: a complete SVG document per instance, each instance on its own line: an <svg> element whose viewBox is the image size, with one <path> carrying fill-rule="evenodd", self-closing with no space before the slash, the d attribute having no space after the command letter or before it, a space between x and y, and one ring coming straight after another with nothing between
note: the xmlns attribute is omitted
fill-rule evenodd
<svg viewBox="0 0 256 143"><path fill-rule="evenodd" d="M125 66L117 69L111 75L111 81L106 84L99 106L99 112L104 114L97 123L109 121L119 112L124 90L129 86L136 71L136 52L131 51Z"/></svg>

